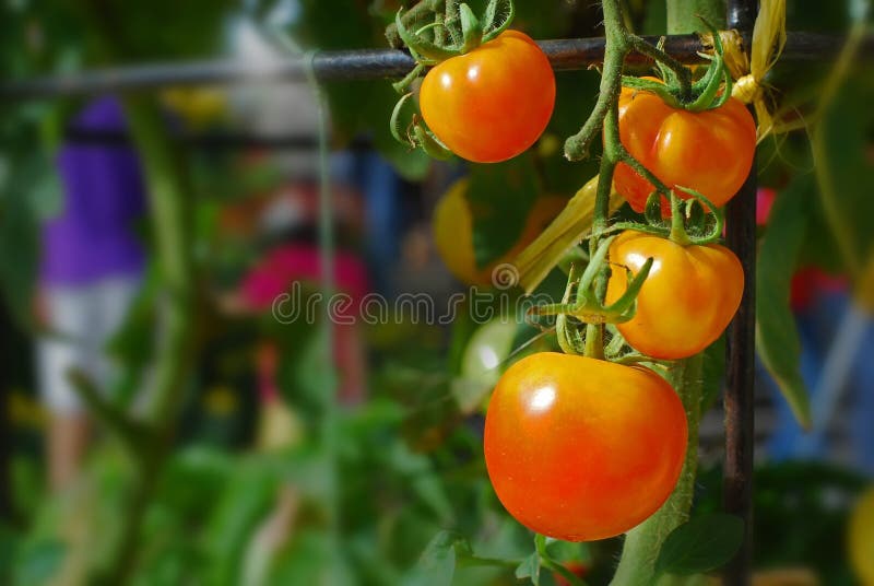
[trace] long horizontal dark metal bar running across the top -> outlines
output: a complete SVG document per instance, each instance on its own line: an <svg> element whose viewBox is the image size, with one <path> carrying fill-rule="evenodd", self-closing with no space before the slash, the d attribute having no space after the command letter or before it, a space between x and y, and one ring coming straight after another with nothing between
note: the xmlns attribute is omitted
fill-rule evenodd
<svg viewBox="0 0 874 586"><path fill-rule="evenodd" d="M650 37L649 40L656 43L658 38ZM838 36L790 33L780 59L822 60L837 54L841 43ZM557 70L584 69L604 58L603 38L541 40L540 46ZM665 40L668 52L687 63L701 61L697 51L702 48L695 35L674 35ZM874 37L866 40L862 51L874 56ZM629 62L642 63L645 60L634 55ZM287 57L260 63L213 60L103 69L0 83L0 99L94 95L184 85L302 81L306 77L306 59ZM321 81L401 78L412 67L413 59L394 49L323 51L312 58L312 68Z"/></svg>

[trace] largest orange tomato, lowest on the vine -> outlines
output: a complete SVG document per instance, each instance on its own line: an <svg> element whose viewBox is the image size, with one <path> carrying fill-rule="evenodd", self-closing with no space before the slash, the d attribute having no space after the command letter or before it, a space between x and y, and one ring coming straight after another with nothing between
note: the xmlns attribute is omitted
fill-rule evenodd
<svg viewBox="0 0 874 586"><path fill-rule="evenodd" d="M683 405L642 367L542 352L500 378L485 462L519 523L567 541L604 539L652 515L680 478Z"/></svg>

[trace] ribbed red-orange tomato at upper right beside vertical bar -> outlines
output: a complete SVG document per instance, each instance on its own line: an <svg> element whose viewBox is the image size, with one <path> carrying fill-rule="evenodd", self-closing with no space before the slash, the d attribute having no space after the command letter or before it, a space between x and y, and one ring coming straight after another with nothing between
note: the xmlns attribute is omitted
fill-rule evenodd
<svg viewBox="0 0 874 586"><path fill-rule="evenodd" d="M619 138L668 187L690 187L717 207L741 188L756 152L753 116L733 97L716 109L689 112L672 108L656 94L623 87ZM625 163L616 165L613 184L638 212L654 190Z"/></svg>

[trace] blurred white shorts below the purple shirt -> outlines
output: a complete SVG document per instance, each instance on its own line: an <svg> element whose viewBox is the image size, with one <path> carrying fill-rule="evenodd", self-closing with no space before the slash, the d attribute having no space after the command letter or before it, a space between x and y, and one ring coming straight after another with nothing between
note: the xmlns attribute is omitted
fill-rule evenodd
<svg viewBox="0 0 874 586"><path fill-rule="evenodd" d="M44 302L52 333L37 341L37 378L50 413L82 412L68 378L71 368L83 371L98 389L106 391L115 365L105 348L123 324L140 284L139 276L123 276L85 285L45 286Z"/></svg>

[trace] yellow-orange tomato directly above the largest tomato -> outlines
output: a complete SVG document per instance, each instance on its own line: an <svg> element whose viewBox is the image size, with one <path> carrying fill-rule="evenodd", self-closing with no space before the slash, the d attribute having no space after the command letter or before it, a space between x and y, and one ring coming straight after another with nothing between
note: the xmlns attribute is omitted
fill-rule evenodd
<svg viewBox="0 0 874 586"><path fill-rule="evenodd" d="M637 296L637 313L617 324L636 350L657 359L696 354L719 338L744 292L744 271L734 253L720 245L680 246L666 238L626 231L610 247L610 261L637 272L652 269ZM625 270L613 268L607 303L627 286Z"/></svg>

